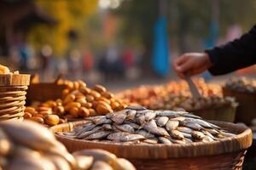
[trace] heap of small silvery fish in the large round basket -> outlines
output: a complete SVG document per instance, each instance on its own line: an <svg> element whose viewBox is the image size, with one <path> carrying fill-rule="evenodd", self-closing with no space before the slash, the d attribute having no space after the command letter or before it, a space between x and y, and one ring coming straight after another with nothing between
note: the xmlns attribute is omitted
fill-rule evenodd
<svg viewBox="0 0 256 170"><path fill-rule="evenodd" d="M151 111L134 105L87 120L72 132L57 134L72 139L129 144L189 144L235 135L185 111Z"/></svg>

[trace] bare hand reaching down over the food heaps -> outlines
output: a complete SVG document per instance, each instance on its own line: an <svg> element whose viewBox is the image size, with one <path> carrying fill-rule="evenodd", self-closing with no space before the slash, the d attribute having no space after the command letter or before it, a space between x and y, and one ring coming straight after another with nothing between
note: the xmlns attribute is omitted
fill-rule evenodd
<svg viewBox="0 0 256 170"><path fill-rule="evenodd" d="M193 76L206 71L212 66L212 62L206 53L183 54L174 60L173 67L177 76L184 78L184 74Z"/></svg>

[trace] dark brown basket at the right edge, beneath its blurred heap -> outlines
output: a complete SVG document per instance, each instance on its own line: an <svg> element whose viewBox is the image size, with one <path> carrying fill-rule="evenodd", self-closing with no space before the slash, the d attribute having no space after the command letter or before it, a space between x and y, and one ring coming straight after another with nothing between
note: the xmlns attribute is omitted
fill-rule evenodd
<svg viewBox="0 0 256 170"><path fill-rule="evenodd" d="M238 92L223 88L224 96L232 96L239 103L236 110L235 122L244 122L251 125L253 118L256 118L256 94Z"/></svg>

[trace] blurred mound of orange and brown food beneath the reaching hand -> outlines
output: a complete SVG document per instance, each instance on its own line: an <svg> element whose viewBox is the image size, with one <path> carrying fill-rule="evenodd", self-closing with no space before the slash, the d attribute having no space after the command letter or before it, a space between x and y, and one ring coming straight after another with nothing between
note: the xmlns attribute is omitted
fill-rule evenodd
<svg viewBox="0 0 256 170"><path fill-rule="evenodd" d="M201 98L191 96L187 82L169 82L160 86L142 86L118 94L120 99L143 105L152 110L201 111L209 108L237 105L235 99L223 97L221 87L195 80Z"/></svg>

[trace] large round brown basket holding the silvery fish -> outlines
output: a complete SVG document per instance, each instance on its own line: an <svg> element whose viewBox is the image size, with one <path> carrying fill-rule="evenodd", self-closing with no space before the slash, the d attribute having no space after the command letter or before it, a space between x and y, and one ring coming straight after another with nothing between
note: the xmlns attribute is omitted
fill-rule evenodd
<svg viewBox="0 0 256 170"><path fill-rule="evenodd" d="M72 131L73 127L84 124L69 122L50 130L56 132ZM237 133L236 137L221 139L212 143L193 144L109 144L90 142L79 139L67 139L56 135L56 138L73 152L84 149L108 150L119 157L130 160L137 169L241 169L246 150L252 144L252 131L244 126L229 122L214 122L220 127Z"/></svg>

